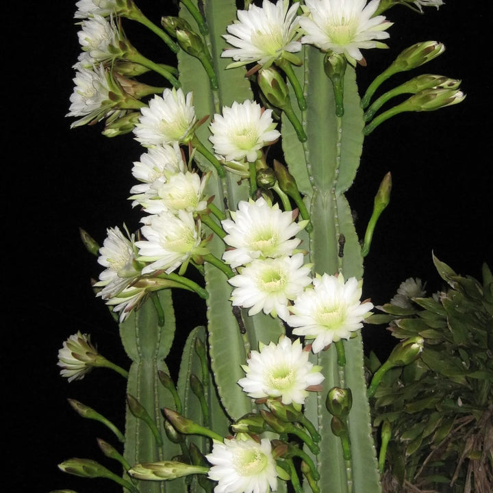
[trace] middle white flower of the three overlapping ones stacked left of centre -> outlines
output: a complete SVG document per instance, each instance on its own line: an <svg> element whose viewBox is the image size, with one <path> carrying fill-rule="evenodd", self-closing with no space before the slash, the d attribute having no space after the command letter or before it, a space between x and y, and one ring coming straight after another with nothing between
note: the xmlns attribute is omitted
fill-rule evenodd
<svg viewBox="0 0 493 493"><path fill-rule="evenodd" d="M168 210L177 214L179 210L199 212L207 208L203 189L210 175L202 177L198 173L186 171L171 175L167 181L157 182L151 186L146 197L140 197L139 203L149 214L160 214ZM130 197L133 198L133 197Z"/></svg>

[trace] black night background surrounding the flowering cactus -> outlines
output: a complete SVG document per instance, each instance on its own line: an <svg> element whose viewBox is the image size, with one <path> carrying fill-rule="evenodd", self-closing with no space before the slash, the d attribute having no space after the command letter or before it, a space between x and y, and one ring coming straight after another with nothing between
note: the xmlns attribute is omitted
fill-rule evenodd
<svg viewBox="0 0 493 493"><path fill-rule="evenodd" d="M100 369L69 384L56 364L58 349L78 330L90 333L116 364L129 364L108 308L90 287L101 268L81 244L79 227L100 244L108 227L138 227L140 217L127 197L134 185L131 166L142 148L131 134L101 136L101 125L70 129L72 120L64 116L80 51L75 2L9 4L15 6L5 7L10 12L4 18L8 39L3 47L3 485L6 479L11 484L6 490L15 485L15 491L40 493L57 488L116 492L121 489L108 481L78 479L60 472L57 464L92 457L112 467L95 440L116 444L112 433L77 416L66 399L96 408L123 428L125 382ZM138 1L157 24L169 12L167 4ZM429 293L441 288L432 252L457 273L477 279L483 262L493 265L491 16L479 5L448 0L424 16L393 8L386 13L394 22L390 49L364 52L368 66L357 67L362 94L400 51L438 40L446 46L444 54L385 88L418 73L435 73L462 79L467 94L451 108L396 116L365 140L347 194L359 236L383 175L390 171L393 180L390 205L365 261L364 295L375 305L390 300L407 277L427 281ZM136 36L142 38L129 37L144 55L166 62L160 40L141 29ZM203 309L194 308L196 297L179 292L175 299L178 332L205 322ZM393 343L384 328L368 327L364 338L367 349L382 356ZM179 352L172 353L177 362Z"/></svg>

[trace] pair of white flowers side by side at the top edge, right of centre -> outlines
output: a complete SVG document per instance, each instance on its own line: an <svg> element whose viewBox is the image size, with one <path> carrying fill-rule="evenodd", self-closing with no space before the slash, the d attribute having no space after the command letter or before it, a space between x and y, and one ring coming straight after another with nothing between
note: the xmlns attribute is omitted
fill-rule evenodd
<svg viewBox="0 0 493 493"><path fill-rule="evenodd" d="M262 8L250 5L238 11L238 21L229 25L225 39L235 48L226 49L223 57L233 58L230 66L257 62L269 66L301 50L302 44L323 51L344 53L351 64L361 62L361 49L385 48L381 40L392 23L384 16L374 16L379 0L306 0L303 14L296 16L299 3L288 10L288 1L276 4L264 0Z"/></svg>

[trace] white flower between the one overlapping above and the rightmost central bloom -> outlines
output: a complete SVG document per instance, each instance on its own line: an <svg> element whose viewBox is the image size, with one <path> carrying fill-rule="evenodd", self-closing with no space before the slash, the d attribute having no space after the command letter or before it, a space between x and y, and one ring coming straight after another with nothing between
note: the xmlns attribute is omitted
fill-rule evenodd
<svg viewBox="0 0 493 493"><path fill-rule="evenodd" d="M294 300L312 282L311 265L303 266L303 253L275 259L253 260L239 275L229 279L236 288L231 293L233 306L250 308L249 315L289 316L288 300Z"/></svg>

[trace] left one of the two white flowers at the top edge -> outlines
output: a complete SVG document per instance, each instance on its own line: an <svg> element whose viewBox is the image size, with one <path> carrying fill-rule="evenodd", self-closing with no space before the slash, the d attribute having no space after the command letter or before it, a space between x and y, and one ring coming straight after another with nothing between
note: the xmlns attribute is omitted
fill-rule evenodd
<svg viewBox="0 0 493 493"><path fill-rule="evenodd" d="M248 10L238 10L238 21L229 25L223 37L230 45L221 53L222 57L233 58L238 63L229 66L257 62L269 66L282 57L283 51L295 53L301 50L299 25L296 10L299 3L264 0L262 8L249 5Z"/></svg>

